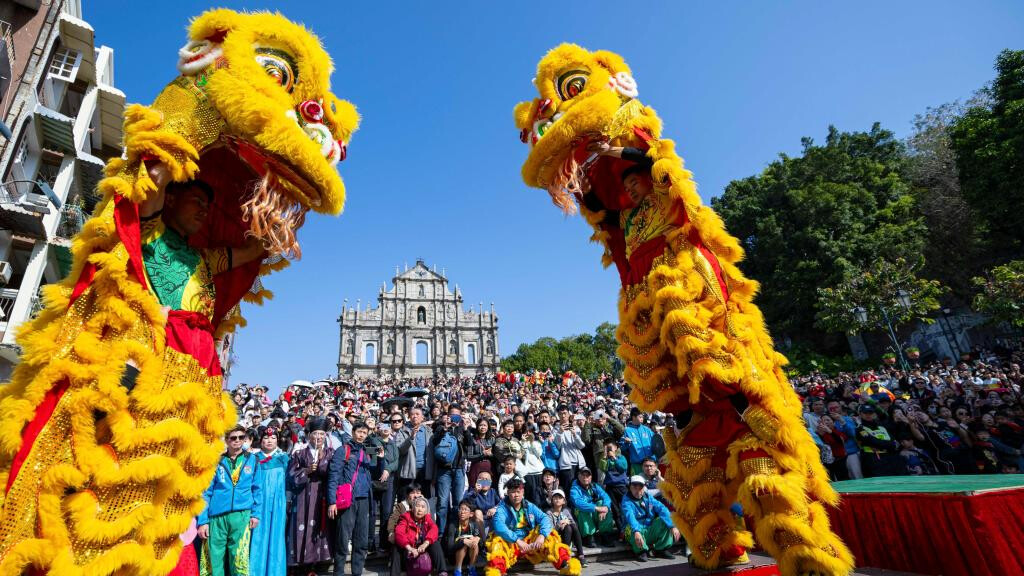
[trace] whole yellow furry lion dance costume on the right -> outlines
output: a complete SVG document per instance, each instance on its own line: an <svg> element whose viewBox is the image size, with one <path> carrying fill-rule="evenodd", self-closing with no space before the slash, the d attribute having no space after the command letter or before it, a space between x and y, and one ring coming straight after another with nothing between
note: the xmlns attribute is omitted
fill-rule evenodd
<svg viewBox="0 0 1024 576"><path fill-rule="evenodd" d="M692 549L715 569L746 562L754 536L783 575L845 575L853 558L824 504L838 495L753 303L742 251L703 206L662 123L617 54L563 44L540 61L540 97L515 109L528 186L578 207L622 279L616 332L631 399L676 414L664 492Z"/></svg>

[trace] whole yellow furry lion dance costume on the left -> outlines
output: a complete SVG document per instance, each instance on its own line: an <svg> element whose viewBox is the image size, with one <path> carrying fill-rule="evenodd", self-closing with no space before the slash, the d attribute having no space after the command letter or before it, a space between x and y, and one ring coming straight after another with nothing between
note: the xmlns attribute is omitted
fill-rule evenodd
<svg viewBox="0 0 1024 576"><path fill-rule="evenodd" d="M236 419L217 342L299 256L306 212L344 202L335 165L358 116L311 33L212 10L179 58L152 106L127 109L72 274L0 386L0 575L175 568ZM175 186L198 191L195 234L141 210L166 194L166 212Z"/></svg>

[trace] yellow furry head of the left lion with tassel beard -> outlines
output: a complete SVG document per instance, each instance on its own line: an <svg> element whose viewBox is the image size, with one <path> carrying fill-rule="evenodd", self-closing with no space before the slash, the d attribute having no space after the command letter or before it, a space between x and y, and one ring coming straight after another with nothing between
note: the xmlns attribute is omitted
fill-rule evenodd
<svg viewBox="0 0 1024 576"><path fill-rule="evenodd" d="M182 77L202 89L229 134L200 143L226 145L257 176L242 200L248 234L272 254L301 256L296 231L306 212L341 211L345 188L335 166L359 122L355 108L330 91L327 52L280 14L218 9L191 23L179 56Z"/></svg>

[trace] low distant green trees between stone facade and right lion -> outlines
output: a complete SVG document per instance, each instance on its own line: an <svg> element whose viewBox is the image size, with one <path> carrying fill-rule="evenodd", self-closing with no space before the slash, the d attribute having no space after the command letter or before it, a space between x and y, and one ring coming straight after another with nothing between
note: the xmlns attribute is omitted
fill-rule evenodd
<svg viewBox="0 0 1024 576"><path fill-rule="evenodd" d="M568 369L585 377L595 377L613 371L616 345L615 325L605 322L594 334L578 334L560 340L545 336L534 343L519 344L514 354L502 360L502 368L526 373L551 370L556 374Z"/></svg>

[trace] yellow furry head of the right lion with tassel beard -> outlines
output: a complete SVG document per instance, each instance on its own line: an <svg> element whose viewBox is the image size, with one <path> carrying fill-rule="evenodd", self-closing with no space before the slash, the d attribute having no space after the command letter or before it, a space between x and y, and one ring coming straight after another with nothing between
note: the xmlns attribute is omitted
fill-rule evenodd
<svg viewBox="0 0 1024 576"><path fill-rule="evenodd" d="M613 139L627 126L624 112L641 108L637 84L618 54L562 44L538 64L534 85L539 97L515 107L519 139L530 148L522 176L571 214L587 192L586 142Z"/></svg>

